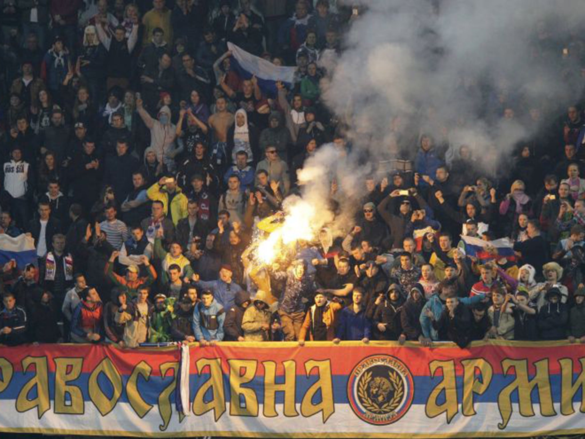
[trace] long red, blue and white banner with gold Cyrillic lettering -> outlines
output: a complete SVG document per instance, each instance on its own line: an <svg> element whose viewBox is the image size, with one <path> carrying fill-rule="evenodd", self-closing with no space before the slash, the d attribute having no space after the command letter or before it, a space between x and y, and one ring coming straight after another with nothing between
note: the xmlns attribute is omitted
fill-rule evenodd
<svg viewBox="0 0 585 439"><path fill-rule="evenodd" d="M474 342L467 349L450 343L228 342L191 346L183 355L179 347L2 347L0 431L136 437L583 434L584 366L585 347L565 342ZM187 413L178 413L177 404Z"/></svg>

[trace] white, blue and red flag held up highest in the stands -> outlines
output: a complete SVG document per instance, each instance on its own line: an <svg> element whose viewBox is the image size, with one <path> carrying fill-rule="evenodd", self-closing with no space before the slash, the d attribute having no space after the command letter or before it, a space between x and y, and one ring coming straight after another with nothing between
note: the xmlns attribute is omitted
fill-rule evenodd
<svg viewBox="0 0 585 439"><path fill-rule="evenodd" d="M270 61L246 52L230 42L228 49L232 51L230 65L238 72L240 78L250 79L256 76L260 90L269 97L276 97L277 81L282 81L288 86L294 82L296 67L275 66Z"/></svg>

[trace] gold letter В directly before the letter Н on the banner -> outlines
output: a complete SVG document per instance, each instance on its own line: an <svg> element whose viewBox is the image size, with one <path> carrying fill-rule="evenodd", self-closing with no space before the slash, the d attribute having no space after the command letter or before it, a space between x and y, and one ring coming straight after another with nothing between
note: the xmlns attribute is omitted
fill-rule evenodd
<svg viewBox="0 0 585 439"><path fill-rule="evenodd" d="M253 389L242 387L256 376L256 360L228 360L229 365L229 414L231 416L258 416L258 398ZM243 373L242 373L243 369ZM240 403L243 397L243 405Z"/></svg>

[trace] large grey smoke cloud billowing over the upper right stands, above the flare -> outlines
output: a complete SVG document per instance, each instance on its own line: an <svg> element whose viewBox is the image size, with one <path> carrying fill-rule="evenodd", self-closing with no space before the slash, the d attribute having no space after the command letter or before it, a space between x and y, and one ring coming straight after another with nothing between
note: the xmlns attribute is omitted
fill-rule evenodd
<svg viewBox="0 0 585 439"><path fill-rule="evenodd" d="M346 50L324 81L324 99L347 118L354 146L374 157L393 155L388 134L396 116L415 121L414 138L429 132L454 150L467 143L477 154L493 147L509 154L535 128L520 122L529 106L558 116L582 90L563 76L579 71L561 51L585 22L580 0L362 5L366 11L353 21ZM515 121L494 114L500 96L511 98ZM417 149L409 147L409 158Z"/></svg>

